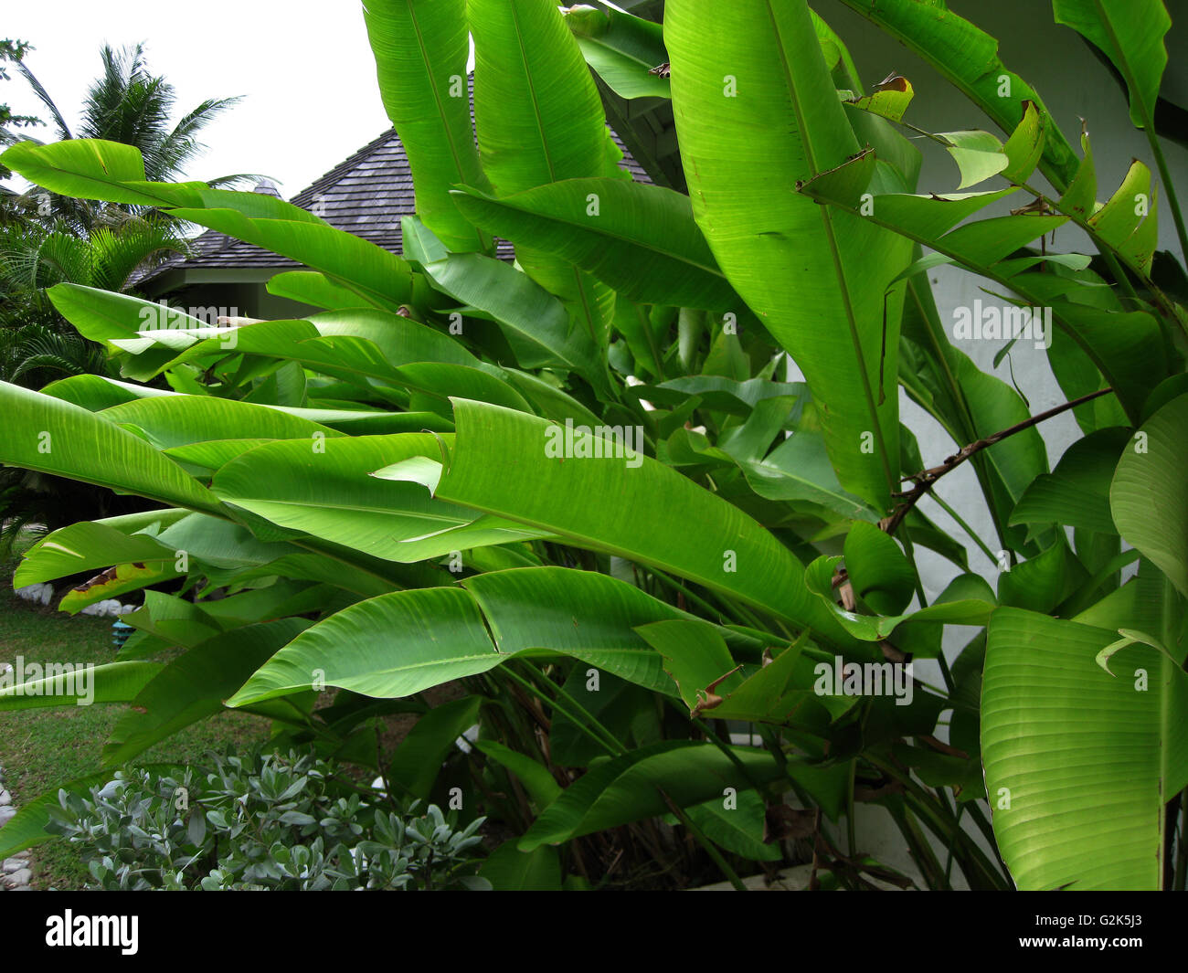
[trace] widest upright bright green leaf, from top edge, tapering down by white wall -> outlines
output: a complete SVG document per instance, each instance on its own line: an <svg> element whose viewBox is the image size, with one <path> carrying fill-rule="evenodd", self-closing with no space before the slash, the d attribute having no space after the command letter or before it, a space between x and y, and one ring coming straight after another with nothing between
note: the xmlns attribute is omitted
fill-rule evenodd
<svg viewBox="0 0 1188 973"><path fill-rule="evenodd" d="M827 404L841 486L883 510L899 454L903 286L891 284L911 246L789 191L861 149L808 7L739 0L707 45L702 6L670 0L664 30L697 222L727 279ZM890 168L883 175L903 185Z"/></svg>

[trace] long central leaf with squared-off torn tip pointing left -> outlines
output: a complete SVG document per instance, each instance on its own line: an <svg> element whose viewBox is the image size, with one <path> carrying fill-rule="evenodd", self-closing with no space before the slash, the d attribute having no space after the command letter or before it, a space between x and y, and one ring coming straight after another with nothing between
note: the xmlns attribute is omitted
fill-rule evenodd
<svg viewBox="0 0 1188 973"><path fill-rule="evenodd" d="M437 485L441 499L674 571L847 642L804 589L803 567L785 546L674 469L627 455L621 441L493 405L459 399L454 415L457 438ZM550 457L550 442L563 453L567 437L575 455ZM618 455L582 459L582 444Z"/></svg>

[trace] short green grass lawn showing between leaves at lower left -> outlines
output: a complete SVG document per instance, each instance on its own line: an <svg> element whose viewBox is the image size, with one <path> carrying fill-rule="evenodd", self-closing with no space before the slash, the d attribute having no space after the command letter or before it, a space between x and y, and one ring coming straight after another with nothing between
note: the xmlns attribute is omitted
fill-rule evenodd
<svg viewBox="0 0 1188 973"><path fill-rule="evenodd" d="M23 601L12 590L15 561L0 562L0 662L112 662L113 619L68 615L51 605ZM75 777L100 769L100 752L126 707L69 706L0 713L0 766L13 803L27 801ZM255 716L223 713L187 727L138 758L138 763L197 760L228 743L248 746L267 735L267 724ZM51 841L32 849L33 885L38 889L80 889L87 871L74 848Z"/></svg>

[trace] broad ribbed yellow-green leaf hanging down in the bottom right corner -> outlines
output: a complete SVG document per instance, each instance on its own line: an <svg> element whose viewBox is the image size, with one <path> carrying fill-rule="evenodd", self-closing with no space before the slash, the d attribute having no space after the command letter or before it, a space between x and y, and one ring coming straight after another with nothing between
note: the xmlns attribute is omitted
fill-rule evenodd
<svg viewBox="0 0 1188 973"><path fill-rule="evenodd" d="M1188 784L1188 675L1142 644L1111 675L1094 657L1116 639L1017 608L991 620L981 753L1019 889L1163 884L1163 805Z"/></svg>

